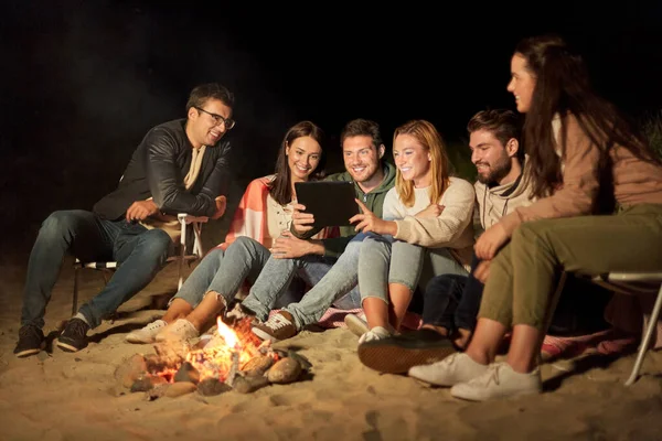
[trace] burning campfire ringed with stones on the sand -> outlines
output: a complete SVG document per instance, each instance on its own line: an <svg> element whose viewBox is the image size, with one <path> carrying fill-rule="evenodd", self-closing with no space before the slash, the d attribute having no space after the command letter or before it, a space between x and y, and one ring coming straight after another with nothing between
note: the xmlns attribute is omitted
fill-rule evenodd
<svg viewBox="0 0 662 441"><path fill-rule="evenodd" d="M274 349L250 332L250 319L229 327L221 318L216 330L199 342L162 343L156 354L124 361L115 372L122 387L148 399L197 390L204 396L235 390L252 392L270 384L296 381L311 365L292 351Z"/></svg>

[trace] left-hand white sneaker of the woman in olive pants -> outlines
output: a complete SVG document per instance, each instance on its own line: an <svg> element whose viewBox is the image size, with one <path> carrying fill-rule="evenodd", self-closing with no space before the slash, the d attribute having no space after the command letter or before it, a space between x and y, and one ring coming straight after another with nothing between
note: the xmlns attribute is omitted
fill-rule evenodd
<svg viewBox="0 0 662 441"><path fill-rule="evenodd" d="M409 368L408 375L430 385L453 386L479 377L487 370L487 365L474 362L462 352L431 365L414 366Z"/></svg>

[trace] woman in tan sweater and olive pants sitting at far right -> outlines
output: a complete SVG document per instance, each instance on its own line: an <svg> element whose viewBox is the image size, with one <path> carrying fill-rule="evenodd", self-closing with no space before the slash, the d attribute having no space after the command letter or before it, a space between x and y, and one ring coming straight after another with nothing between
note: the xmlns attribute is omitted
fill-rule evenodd
<svg viewBox="0 0 662 441"><path fill-rule="evenodd" d="M489 277L467 351L409 369L470 400L542 390L538 355L560 271L662 268L662 164L645 138L591 89L584 61L558 36L523 40L511 74L538 198L477 240L491 265L480 269ZM511 327L508 358L494 363Z"/></svg>

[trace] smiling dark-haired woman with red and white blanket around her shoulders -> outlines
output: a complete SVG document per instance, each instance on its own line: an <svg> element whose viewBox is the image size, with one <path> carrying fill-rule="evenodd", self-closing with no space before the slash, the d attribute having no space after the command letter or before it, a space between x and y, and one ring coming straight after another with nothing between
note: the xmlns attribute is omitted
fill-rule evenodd
<svg viewBox="0 0 662 441"><path fill-rule="evenodd" d="M276 173L250 182L235 211L225 241L210 251L162 319L131 332L129 343L196 337L226 310L242 284L253 283L270 256L274 239L288 235L295 182L322 178L322 130L310 121L291 127L282 140ZM314 238L329 236L323 229Z"/></svg>

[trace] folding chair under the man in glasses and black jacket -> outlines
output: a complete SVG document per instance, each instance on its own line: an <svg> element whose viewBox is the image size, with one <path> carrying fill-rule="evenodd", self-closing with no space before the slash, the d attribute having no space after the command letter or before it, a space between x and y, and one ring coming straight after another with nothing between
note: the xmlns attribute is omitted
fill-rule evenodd
<svg viewBox="0 0 662 441"><path fill-rule="evenodd" d="M204 256L204 251L202 249L202 239L201 239L201 228L202 224L207 220L206 217L195 217L190 216L186 213L180 213L177 216L180 225L181 225L181 234L180 234L180 244L178 254L175 256L171 256L168 258L167 262L178 261L178 286L179 290L182 288L182 283L184 282L184 261L191 265L193 261L201 259ZM191 254L186 254L188 244L186 244L186 225L191 225L193 228L193 249ZM78 272L82 269L94 269L100 271L104 276L104 282L108 283L108 279L118 267L118 262L116 261L92 261L92 262L82 262L76 259L74 262L74 299L72 304L72 315L76 314L78 311Z"/></svg>

